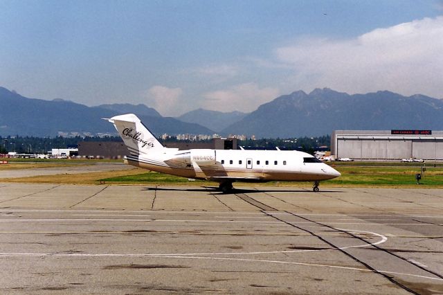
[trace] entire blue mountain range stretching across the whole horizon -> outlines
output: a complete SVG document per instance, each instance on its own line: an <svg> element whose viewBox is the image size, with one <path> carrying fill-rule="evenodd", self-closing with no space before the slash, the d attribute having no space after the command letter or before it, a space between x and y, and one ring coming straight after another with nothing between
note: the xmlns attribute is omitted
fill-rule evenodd
<svg viewBox="0 0 443 295"><path fill-rule="evenodd" d="M197 109L178 118L161 116L145 105L87 107L67 100L40 100L0 87L0 135L56 136L62 133L109 133L100 118L134 113L156 135L246 134L256 138L291 138L331 134L334 129L443 129L443 100L390 91L350 95L332 89L295 91L255 111L223 113Z"/></svg>

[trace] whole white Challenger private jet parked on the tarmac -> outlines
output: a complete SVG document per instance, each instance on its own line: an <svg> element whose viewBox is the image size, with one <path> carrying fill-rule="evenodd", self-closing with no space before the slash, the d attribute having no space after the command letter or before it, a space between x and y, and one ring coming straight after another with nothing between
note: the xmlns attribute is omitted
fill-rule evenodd
<svg viewBox="0 0 443 295"><path fill-rule="evenodd" d="M179 150L164 147L134 114L114 116L118 134L130 155L127 162L136 167L190 179L217 181L224 193L234 181L314 181L318 192L321 180L333 179L340 172L305 152L287 150Z"/></svg>

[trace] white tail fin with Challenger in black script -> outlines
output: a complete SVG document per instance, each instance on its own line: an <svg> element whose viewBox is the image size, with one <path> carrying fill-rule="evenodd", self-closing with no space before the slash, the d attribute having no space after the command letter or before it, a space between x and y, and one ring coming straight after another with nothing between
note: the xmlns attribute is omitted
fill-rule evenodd
<svg viewBox="0 0 443 295"><path fill-rule="evenodd" d="M107 120L114 124L127 149L134 156L165 148L134 114L114 116Z"/></svg>

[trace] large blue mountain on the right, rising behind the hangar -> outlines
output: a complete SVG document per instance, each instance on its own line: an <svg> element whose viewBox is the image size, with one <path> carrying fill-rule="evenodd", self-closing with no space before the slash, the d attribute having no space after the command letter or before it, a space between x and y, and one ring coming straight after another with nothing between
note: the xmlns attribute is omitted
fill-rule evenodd
<svg viewBox="0 0 443 295"><path fill-rule="evenodd" d="M296 91L261 105L221 133L257 138L321 136L333 130L443 129L443 100L401 96L390 91L367 94L315 89Z"/></svg>

